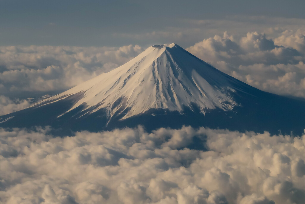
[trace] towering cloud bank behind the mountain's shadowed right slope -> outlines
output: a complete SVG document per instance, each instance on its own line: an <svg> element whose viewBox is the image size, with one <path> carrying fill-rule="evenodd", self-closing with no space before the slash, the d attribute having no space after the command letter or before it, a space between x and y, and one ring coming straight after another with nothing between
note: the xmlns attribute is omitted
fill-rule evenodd
<svg viewBox="0 0 305 204"><path fill-rule="evenodd" d="M264 91L305 97L305 38L284 30L274 39L248 32L235 39L224 32L187 50L217 69Z"/></svg>

